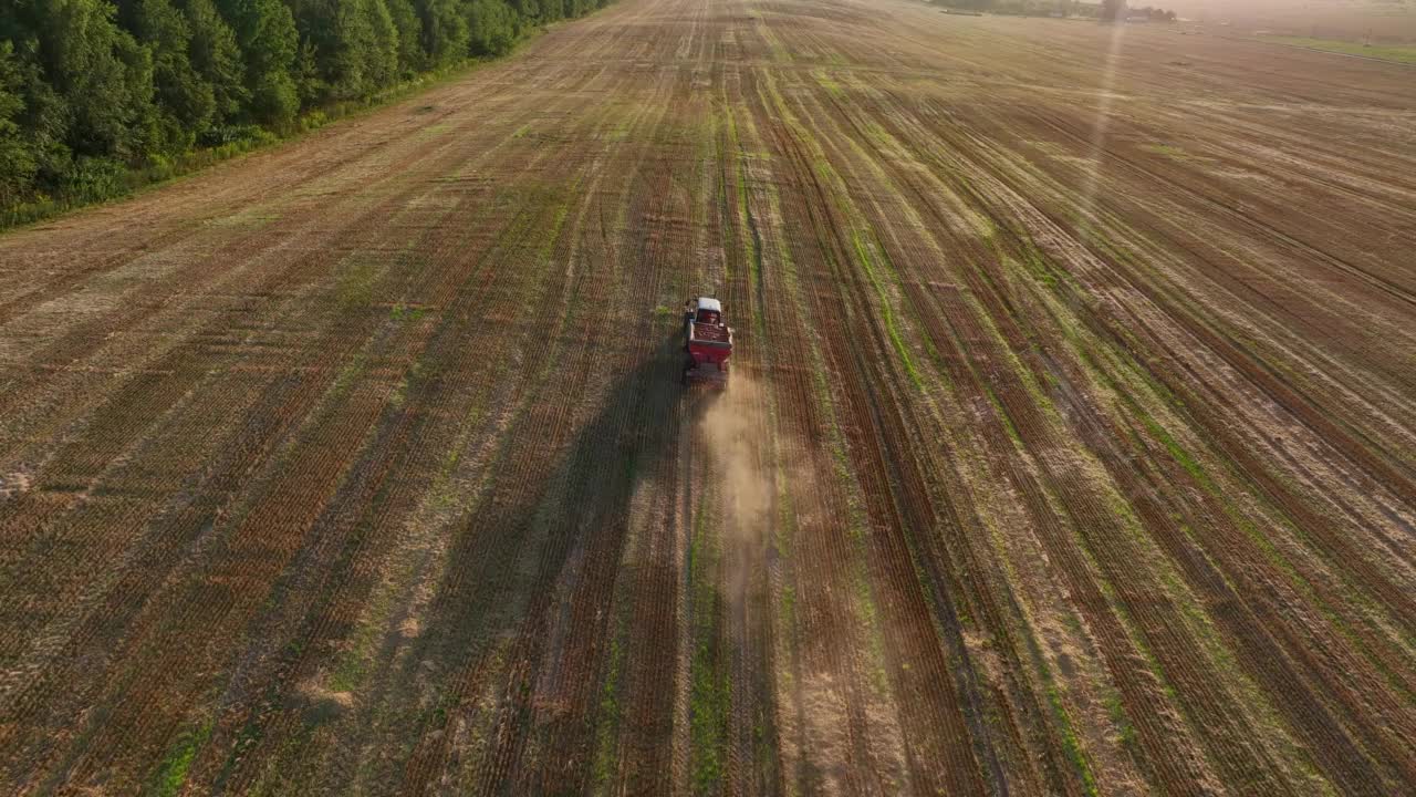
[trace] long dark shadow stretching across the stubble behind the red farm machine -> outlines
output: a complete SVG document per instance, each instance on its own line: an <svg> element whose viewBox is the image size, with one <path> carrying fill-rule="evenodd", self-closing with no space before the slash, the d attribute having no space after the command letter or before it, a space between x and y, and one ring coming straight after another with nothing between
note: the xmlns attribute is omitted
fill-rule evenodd
<svg viewBox="0 0 1416 797"><path fill-rule="evenodd" d="M412 642L412 655L389 671L384 685L394 702L402 702L402 689L413 688L409 698L421 696L426 708L405 729L418 739L405 771L426 770L419 757L430 759L423 763L443 759L457 712L473 726L497 723L486 730L501 749L489 754L518 762L527 736L535 733L552 746L538 756L539 766L564 769L572 780L589 771L593 750L582 712L593 713L599 699L592 682L615 632L616 580L633 579L636 596L674 596L677 590L673 567L633 567L624 576L619 566L630 505L646 481L675 492L654 503L660 515L651 516L650 533L674 533L668 515L687 478L681 445L688 445L694 424L715 400L712 390L681 384L683 363L678 336L660 339L639 366L615 380L599 410L572 433L548 469L524 471L513 459L521 452L508 451L487 496L455 528L426 625ZM575 397L548 400L576 404ZM535 418L537 413L528 413L521 424ZM514 427L508 440L524 441L527 431L535 434ZM539 484L523 484L524 474ZM673 549L673 540L661 545ZM671 628L667 640L674 640ZM674 650L664 650L663 657L666 664L673 661ZM663 689L671 689L671 667L660 669ZM435 698L432 706L428 696ZM544 710L542 701L562 698L566 705ZM537 716L551 719L531 723L538 703ZM664 716L646 719L654 726L661 720L667 735L670 715L671 701L666 701ZM558 730L559 723L569 725ZM506 784L477 784L498 786Z"/></svg>

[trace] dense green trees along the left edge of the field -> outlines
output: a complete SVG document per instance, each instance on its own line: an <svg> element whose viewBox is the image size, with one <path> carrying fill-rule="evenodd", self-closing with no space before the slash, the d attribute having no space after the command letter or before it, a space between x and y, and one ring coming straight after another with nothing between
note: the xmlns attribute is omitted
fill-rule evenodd
<svg viewBox="0 0 1416 797"><path fill-rule="evenodd" d="M113 196L606 3L3 0L0 208Z"/></svg>

